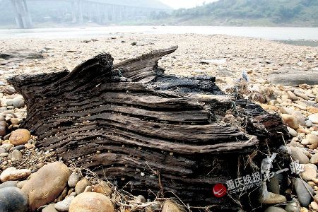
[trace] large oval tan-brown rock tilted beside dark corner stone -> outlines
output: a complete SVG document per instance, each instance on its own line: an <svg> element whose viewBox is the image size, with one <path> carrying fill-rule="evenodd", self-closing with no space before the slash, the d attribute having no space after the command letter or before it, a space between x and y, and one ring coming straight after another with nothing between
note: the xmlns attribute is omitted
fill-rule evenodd
<svg viewBox="0 0 318 212"><path fill-rule="evenodd" d="M30 210L35 211L57 199L69 175L69 168L60 162L49 163L35 172L22 188L22 192L28 195Z"/></svg>

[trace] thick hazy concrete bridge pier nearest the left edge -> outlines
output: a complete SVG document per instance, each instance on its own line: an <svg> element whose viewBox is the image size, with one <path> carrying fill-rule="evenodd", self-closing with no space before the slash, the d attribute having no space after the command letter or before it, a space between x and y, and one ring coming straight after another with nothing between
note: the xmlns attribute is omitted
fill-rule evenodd
<svg viewBox="0 0 318 212"><path fill-rule="evenodd" d="M32 20L25 0L11 0L16 13L16 23L19 28L32 28Z"/></svg>

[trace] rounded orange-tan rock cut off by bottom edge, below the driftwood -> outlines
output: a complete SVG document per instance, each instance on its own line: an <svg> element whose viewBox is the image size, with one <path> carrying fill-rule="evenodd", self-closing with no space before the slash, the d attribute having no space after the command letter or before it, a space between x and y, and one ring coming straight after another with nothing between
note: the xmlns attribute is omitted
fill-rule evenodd
<svg viewBox="0 0 318 212"><path fill-rule="evenodd" d="M85 211L114 212L114 206L107 196L95 192L85 192L73 199L69 206L69 212Z"/></svg>

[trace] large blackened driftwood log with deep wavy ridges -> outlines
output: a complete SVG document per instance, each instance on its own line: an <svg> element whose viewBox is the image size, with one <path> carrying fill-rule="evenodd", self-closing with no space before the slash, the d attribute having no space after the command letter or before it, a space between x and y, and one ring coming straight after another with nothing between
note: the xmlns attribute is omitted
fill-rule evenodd
<svg viewBox="0 0 318 212"><path fill-rule="evenodd" d="M241 157L279 146L286 128L275 114L224 95L213 77L165 75L158 60L176 49L114 65L100 54L71 72L8 79L28 107L22 127L39 137L37 147L134 194L235 207L213 196L213 185L235 179Z"/></svg>

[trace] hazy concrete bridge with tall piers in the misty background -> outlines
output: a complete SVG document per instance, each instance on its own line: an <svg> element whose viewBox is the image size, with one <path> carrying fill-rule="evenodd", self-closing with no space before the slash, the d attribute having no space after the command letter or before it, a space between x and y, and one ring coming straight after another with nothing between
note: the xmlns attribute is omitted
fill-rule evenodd
<svg viewBox="0 0 318 212"><path fill-rule="evenodd" d="M43 0L11 0L16 13L16 23L19 28L32 28L28 4L33 1ZM48 1L48 0L46 0ZM72 23L83 23L84 17L89 22L98 24L118 23L121 21L131 21L136 19L148 18L153 13L161 11L170 12L165 8L149 8L143 6L131 6L124 4L109 4L102 0L52 0L64 1L71 4Z"/></svg>

